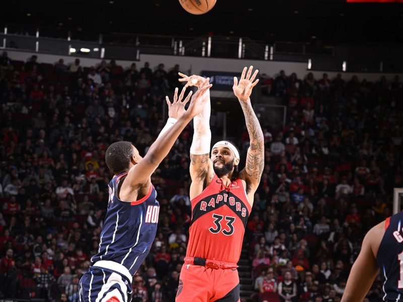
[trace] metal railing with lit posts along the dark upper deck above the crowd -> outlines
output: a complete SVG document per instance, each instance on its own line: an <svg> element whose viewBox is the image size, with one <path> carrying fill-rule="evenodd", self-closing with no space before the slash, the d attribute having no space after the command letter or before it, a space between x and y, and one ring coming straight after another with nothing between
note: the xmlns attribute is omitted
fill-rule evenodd
<svg viewBox="0 0 403 302"><path fill-rule="evenodd" d="M92 58L139 60L140 54L305 62L308 69L401 72L403 45L350 45L252 40L234 36L164 36L5 25L0 48ZM82 51L84 50L84 51ZM308 65L308 62L310 64ZM344 66L344 67L343 67ZM348 66L348 68L346 68Z"/></svg>

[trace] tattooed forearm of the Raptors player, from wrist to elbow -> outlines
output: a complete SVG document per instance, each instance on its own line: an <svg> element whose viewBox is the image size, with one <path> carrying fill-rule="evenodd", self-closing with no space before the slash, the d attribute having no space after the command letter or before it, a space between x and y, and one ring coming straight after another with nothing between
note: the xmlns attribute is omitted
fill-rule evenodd
<svg viewBox="0 0 403 302"><path fill-rule="evenodd" d="M240 101L245 115L250 145L246 156L245 172L251 182L258 183L264 168L264 139L259 121L253 111L250 101Z"/></svg>

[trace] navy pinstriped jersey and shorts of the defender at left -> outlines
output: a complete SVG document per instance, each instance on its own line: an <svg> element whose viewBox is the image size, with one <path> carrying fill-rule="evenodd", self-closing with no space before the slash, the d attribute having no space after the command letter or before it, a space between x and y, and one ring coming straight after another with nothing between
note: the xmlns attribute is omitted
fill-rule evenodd
<svg viewBox="0 0 403 302"><path fill-rule="evenodd" d="M160 205L153 185L147 195L136 201L118 196L127 173L108 184L109 202L101 231L98 254L80 280L80 302L109 299L131 300L131 279L154 242Z"/></svg>

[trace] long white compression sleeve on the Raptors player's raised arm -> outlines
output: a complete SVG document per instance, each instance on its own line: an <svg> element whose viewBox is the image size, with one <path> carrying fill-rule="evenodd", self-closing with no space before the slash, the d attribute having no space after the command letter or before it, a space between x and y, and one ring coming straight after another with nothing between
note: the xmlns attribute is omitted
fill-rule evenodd
<svg viewBox="0 0 403 302"><path fill-rule="evenodd" d="M194 133L192 145L190 146L190 153L194 155L203 155L206 153L210 153L210 90L205 93L204 97L208 98L205 108L203 108L203 111L201 111L193 118Z"/></svg>

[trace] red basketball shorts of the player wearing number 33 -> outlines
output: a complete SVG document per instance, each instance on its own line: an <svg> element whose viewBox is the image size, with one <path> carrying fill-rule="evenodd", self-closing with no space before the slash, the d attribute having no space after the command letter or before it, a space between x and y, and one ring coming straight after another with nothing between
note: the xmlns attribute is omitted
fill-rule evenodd
<svg viewBox="0 0 403 302"><path fill-rule="evenodd" d="M191 263L193 261L186 257L180 271L176 302L240 301L236 264L232 268L219 268L217 262L209 263L209 260L205 266Z"/></svg>

